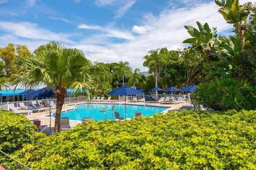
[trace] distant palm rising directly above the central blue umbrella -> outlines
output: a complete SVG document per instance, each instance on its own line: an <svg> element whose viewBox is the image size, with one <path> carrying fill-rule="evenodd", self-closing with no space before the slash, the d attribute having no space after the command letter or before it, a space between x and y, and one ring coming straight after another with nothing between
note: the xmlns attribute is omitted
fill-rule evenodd
<svg viewBox="0 0 256 170"><path fill-rule="evenodd" d="M114 66L115 72L117 72L117 79L120 81L122 79L124 86L124 76L129 76L132 68L129 66L127 61L119 61L118 65Z"/></svg>

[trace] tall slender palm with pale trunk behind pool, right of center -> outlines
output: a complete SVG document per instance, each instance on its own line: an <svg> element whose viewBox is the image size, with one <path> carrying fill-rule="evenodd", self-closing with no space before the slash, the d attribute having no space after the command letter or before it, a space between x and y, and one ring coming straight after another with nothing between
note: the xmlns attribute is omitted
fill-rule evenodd
<svg viewBox="0 0 256 170"><path fill-rule="evenodd" d="M155 78L155 86L158 86L158 77L161 70L161 67L163 64L166 64L166 60L162 55L159 54L160 49L157 50L150 50L148 52L149 55L146 55L143 57L144 63L143 66L146 66L149 68L150 72L154 72L154 78ZM156 96L157 96L156 91Z"/></svg>

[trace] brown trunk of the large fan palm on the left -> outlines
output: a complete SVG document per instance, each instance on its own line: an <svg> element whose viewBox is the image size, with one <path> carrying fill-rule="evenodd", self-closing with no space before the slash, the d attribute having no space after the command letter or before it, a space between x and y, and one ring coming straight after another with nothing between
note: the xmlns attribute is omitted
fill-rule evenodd
<svg viewBox="0 0 256 170"><path fill-rule="evenodd" d="M57 98L54 132L60 132L60 115L67 90L63 87L56 87L54 93Z"/></svg>

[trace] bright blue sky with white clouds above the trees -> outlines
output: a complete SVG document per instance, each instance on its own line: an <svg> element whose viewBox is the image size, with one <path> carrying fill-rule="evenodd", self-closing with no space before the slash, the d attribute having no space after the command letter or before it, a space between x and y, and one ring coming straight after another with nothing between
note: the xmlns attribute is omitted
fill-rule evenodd
<svg viewBox="0 0 256 170"><path fill-rule="evenodd" d="M255 0L240 0L240 3ZM0 47L27 45L34 51L50 41L82 49L92 62L128 61L143 67L149 50L184 48L184 25L196 21L229 35L232 25L214 0L0 0Z"/></svg>

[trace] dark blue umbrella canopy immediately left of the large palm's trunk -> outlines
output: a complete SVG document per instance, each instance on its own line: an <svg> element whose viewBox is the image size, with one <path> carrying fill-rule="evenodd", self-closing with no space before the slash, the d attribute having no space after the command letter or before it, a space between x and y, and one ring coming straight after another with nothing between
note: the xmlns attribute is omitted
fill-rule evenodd
<svg viewBox="0 0 256 170"><path fill-rule="evenodd" d="M55 88L41 88L40 90L36 90L30 94L25 95L26 98L51 98L54 97Z"/></svg>

